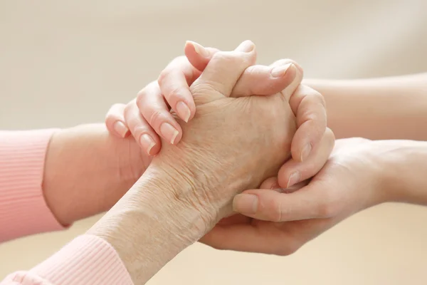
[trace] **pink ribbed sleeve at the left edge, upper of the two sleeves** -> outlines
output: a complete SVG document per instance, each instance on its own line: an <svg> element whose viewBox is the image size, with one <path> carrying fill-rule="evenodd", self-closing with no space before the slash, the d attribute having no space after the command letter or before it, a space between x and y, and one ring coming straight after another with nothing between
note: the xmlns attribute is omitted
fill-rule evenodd
<svg viewBox="0 0 427 285"><path fill-rule="evenodd" d="M0 131L0 242L63 229L41 190L54 131Z"/></svg>

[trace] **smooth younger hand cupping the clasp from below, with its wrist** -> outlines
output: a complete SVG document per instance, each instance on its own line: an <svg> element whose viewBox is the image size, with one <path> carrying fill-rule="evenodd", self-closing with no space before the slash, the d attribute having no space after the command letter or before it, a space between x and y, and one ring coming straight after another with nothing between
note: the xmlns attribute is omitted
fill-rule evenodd
<svg viewBox="0 0 427 285"><path fill-rule="evenodd" d="M270 178L261 190L236 195L234 209L248 217L236 214L223 219L201 242L218 249L292 254L350 215L398 200L398 191L391 186L398 183L390 177L399 175L389 174L389 169L396 167L384 157L396 157L399 144L359 138L337 140L330 160L310 182L293 189L275 189L280 177L288 177L292 168L285 165L279 179Z"/></svg>

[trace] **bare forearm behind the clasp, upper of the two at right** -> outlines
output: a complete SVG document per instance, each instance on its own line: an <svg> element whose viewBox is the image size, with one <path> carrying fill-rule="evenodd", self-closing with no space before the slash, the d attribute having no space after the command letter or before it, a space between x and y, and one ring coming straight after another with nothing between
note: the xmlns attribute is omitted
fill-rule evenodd
<svg viewBox="0 0 427 285"><path fill-rule="evenodd" d="M427 73L351 81L307 79L325 97L337 138L427 140Z"/></svg>

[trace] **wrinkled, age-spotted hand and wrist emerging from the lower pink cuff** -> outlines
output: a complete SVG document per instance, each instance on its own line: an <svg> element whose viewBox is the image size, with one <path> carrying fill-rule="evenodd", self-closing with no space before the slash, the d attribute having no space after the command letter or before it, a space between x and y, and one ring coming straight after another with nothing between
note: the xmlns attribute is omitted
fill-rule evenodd
<svg viewBox="0 0 427 285"><path fill-rule="evenodd" d="M116 249L135 284L231 214L238 192L260 185L290 156L295 116L283 93L228 97L254 56L243 45L212 58L191 85L197 111L189 123L179 121L179 145L164 144L134 187L88 232ZM265 128L273 118L274 128Z"/></svg>

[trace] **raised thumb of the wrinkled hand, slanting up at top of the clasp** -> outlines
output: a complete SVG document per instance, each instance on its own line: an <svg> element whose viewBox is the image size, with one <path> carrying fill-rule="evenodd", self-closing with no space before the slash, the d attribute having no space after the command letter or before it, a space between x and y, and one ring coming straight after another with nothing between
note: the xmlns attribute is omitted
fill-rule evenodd
<svg viewBox="0 0 427 285"><path fill-rule="evenodd" d="M195 100L211 101L229 96L238 78L248 66L255 61L255 46L251 41L244 41L235 51L215 53L201 76L191 86ZM202 98L206 91L209 96ZM216 91L213 93L211 91ZM204 103L204 102L200 102Z"/></svg>

